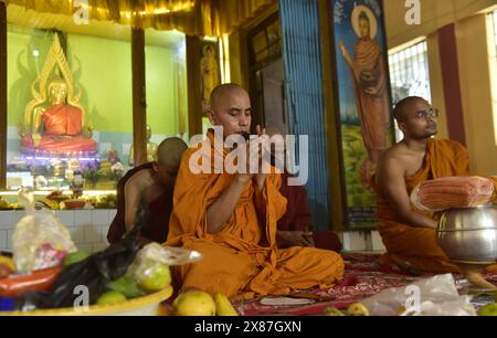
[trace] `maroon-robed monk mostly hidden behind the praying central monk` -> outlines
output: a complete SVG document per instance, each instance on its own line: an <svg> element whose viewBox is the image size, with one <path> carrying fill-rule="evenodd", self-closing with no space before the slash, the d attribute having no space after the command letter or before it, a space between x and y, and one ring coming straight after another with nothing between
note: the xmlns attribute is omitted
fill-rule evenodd
<svg viewBox="0 0 497 338"><path fill-rule="evenodd" d="M313 215L306 188L288 184L288 179L294 176L286 168L285 146L281 147L283 151L276 151L274 146L276 141L284 140L284 133L278 127L268 126L266 134L272 140L271 165L283 169L279 193L286 199L286 212L277 222L276 242L278 247L309 246L340 252L340 239L335 232L313 231ZM277 136L281 138L277 139Z"/></svg>

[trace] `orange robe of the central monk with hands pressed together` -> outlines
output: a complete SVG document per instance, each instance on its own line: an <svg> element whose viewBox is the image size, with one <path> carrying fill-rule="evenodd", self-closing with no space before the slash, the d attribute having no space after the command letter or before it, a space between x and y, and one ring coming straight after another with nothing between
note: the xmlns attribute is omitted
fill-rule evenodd
<svg viewBox="0 0 497 338"><path fill-rule="evenodd" d="M202 150L187 150L181 161L166 243L199 251L204 256L175 272L183 289L197 287L246 299L314 286L329 287L340 279L343 261L332 251L277 249L276 222L286 209L286 200L278 191L279 175L268 175L260 192L247 184L224 229L216 234L208 233L207 210L233 179L229 173L194 173L199 169L195 157L199 154L202 154L200 163L211 163L212 172L223 169L213 156L218 154L224 160L228 151L214 150L212 131L208 137L201 144Z"/></svg>

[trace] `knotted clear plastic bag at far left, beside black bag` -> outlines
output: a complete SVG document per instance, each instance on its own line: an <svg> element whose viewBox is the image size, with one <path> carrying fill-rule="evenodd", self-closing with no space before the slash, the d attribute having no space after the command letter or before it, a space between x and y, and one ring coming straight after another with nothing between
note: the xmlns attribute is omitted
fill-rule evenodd
<svg viewBox="0 0 497 338"><path fill-rule="evenodd" d="M19 202L27 212L12 235L13 261L19 273L56 266L67 253L76 251L70 232L52 211L34 210L32 191L21 189Z"/></svg>

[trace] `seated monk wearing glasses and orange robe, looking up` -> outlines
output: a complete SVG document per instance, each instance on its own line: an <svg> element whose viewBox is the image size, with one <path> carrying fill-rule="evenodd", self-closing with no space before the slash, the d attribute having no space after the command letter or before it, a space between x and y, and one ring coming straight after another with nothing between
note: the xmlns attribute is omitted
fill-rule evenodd
<svg viewBox="0 0 497 338"><path fill-rule="evenodd" d="M379 232L388 253L382 263L408 264L431 273L461 273L436 243L440 213L415 209L412 190L421 182L469 175L467 150L458 142L432 138L438 110L421 97L394 109L404 139L381 158L376 177Z"/></svg>

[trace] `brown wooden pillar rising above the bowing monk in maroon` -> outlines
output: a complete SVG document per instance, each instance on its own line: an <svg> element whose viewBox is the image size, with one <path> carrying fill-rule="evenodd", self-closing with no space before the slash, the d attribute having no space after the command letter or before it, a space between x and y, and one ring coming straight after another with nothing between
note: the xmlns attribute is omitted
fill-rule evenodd
<svg viewBox="0 0 497 338"><path fill-rule="evenodd" d="M135 166L147 162L147 95L145 77L145 31L131 28L133 142Z"/></svg>

